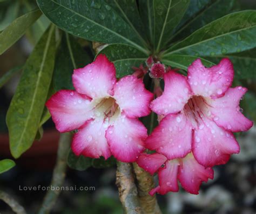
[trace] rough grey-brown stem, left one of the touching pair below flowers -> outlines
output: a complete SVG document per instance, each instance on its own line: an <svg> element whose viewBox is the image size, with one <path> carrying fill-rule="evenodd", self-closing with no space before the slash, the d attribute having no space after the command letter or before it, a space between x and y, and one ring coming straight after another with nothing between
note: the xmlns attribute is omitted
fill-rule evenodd
<svg viewBox="0 0 256 214"><path fill-rule="evenodd" d="M117 162L117 181L119 198L125 214L142 214L139 206L138 191L134 184L131 163Z"/></svg>

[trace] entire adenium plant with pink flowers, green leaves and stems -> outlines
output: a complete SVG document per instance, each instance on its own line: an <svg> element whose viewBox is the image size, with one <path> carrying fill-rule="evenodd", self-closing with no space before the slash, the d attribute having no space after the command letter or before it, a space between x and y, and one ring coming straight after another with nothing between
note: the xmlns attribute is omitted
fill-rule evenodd
<svg viewBox="0 0 256 214"><path fill-rule="evenodd" d="M12 156L51 118L57 160L77 170L114 160L125 213L161 213L156 193L179 182L199 194L239 153L233 133L253 126L239 105L255 78L256 11L235 0L24 2L29 11L0 33L1 54L26 32L33 46L6 114ZM51 185L65 169L56 164ZM39 213L58 194L49 190Z"/></svg>

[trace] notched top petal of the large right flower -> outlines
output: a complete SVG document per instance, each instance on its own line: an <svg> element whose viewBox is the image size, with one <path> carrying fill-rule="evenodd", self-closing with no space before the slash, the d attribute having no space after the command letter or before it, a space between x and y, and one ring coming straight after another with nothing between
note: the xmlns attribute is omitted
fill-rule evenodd
<svg viewBox="0 0 256 214"><path fill-rule="evenodd" d="M206 68L201 59L197 59L187 71L188 82L194 94L211 96L214 99L225 94L234 78L233 64L227 58L210 68Z"/></svg>

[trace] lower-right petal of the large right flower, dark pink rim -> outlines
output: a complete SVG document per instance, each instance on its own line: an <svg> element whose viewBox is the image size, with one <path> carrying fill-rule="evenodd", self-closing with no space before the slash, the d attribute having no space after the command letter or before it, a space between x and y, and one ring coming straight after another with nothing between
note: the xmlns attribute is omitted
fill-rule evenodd
<svg viewBox="0 0 256 214"><path fill-rule="evenodd" d="M201 125L194 131L192 151L196 160L205 167L225 164L231 154L239 153L239 144L233 134L216 125L208 118L203 118Z"/></svg>

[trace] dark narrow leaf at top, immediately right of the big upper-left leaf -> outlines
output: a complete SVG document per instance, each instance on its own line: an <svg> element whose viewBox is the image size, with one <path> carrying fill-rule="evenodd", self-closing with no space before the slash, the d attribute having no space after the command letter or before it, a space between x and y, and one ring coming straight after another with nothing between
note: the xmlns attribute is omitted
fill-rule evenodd
<svg viewBox="0 0 256 214"><path fill-rule="evenodd" d="M105 0L120 17L122 17L136 32L137 36L145 43L144 25L140 19L136 0Z"/></svg>

